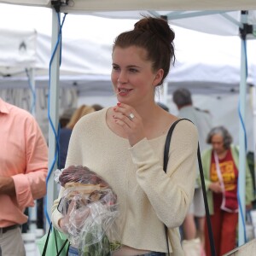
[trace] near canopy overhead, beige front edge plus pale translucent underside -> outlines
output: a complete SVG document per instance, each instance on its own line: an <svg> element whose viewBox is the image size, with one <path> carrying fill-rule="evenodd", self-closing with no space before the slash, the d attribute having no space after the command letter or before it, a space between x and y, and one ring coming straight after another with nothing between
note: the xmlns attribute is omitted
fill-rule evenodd
<svg viewBox="0 0 256 256"><path fill-rule="evenodd" d="M58 3L59 1L52 1ZM65 4L67 2L67 4ZM44 1L1 1L51 7ZM98 15L118 19L139 19L141 15L166 15L177 26L221 35L238 35L241 10L248 11L248 24L256 24L254 0L73 0L60 1L61 12ZM203 24L203 26L202 26ZM256 28L254 28L256 29Z"/></svg>

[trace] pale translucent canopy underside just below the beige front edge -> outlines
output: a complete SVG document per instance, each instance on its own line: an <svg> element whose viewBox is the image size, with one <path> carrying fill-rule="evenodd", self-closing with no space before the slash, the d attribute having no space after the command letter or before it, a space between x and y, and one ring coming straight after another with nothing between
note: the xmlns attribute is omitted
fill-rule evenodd
<svg viewBox="0 0 256 256"><path fill-rule="evenodd" d="M256 9L256 5L255 5ZM62 12L66 8L61 9ZM73 13L73 9L68 9ZM81 12L78 12L81 14ZM108 12L90 12L84 11L84 15L96 15L109 19L140 19L142 15L166 16L167 20L173 25L182 26L199 32L210 34L237 36L241 26L241 11L108 11ZM256 12L249 10L247 14L247 23L256 24ZM256 28L255 28L256 29Z"/></svg>

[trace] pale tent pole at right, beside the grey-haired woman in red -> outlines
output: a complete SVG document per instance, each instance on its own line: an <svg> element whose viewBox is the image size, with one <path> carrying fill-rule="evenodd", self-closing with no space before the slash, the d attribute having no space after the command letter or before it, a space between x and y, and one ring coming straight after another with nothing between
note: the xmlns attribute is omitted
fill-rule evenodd
<svg viewBox="0 0 256 256"><path fill-rule="evenodd" d="M246 50L243 38L241 38L241 80L239 94L239 109L241 120L239 122L239 181L238 191L240 198L239 220L238 220L238 246L245 243L245 177L246 177L246 148L245 148L245 131L243 130L242 121L245 120L246 93L247 93L247 70L246 70Z"/></svg>

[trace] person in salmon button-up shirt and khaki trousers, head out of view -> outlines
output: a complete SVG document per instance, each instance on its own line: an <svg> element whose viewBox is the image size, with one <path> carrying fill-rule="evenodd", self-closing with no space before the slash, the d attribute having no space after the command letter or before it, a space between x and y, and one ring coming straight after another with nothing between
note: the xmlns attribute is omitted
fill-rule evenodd
<svg viewBox="0 0 256 256"><path fill-rule="evenodd" d="M25 256L20 226L46 194L48 147L32 114L2 98L0 133L0 255Z"/></svg>

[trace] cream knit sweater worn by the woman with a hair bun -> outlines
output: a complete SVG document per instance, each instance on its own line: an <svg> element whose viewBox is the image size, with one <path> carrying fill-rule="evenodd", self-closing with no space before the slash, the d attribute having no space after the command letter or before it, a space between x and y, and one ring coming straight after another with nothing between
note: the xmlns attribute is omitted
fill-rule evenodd
<svg viewBox="0 0 256 256"><path fill-rule="evenodd" d="M195 125L182 120L172 134L167 173L163 171L166 134L130 146L106 123L107 108L80 119L73 129L66 167L82 165L103 177L118 196L122 244L167 252L164 224L172 255L181 256L178 227L193 199L198 136ZM63 193L61 188L59 199ZM52 209L57 229L62 215Z"/></svg>

